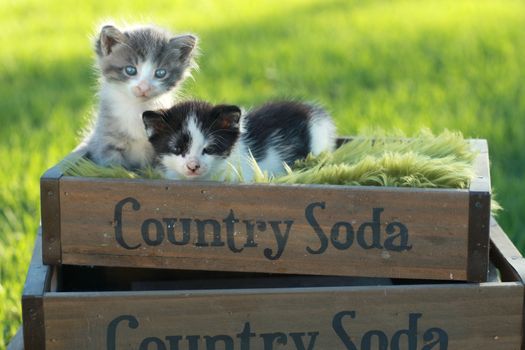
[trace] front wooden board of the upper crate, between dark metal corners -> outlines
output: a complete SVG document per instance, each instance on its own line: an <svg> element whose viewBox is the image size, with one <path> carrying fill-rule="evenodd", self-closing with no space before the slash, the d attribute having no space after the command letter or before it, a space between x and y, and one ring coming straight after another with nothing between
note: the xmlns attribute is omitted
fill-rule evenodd
<svg viewBox="0 0 525 350"><path fill-rule="evenodd" d="M468 191L345 186L231 185L212 182L104 180L63 177L61 194L62 260L65 264L165 267L222 271L278 272L323 275L411 277L429 279L467 278ZM133 198L122 208L121 227L129 250L117 243L115 208L119 201ZM322 254L320 239L306 219L306 208L313 209L315 220L327 239ZM319 205L322 203L324 209ZM140 207L140 208L139 208ZM387 226L400 222L407 227L412 249L396 252L363 249L357 244L358 227L373 218L373 208L381 208L381 244L387 239ZM234 242L247 243L245 221L262 222L265 230L254 229L257 247L234 253L228 246L196 246L195 220L213 219L220 224L226 241L224 220L230 213L239 220ZM174 232L181 239L180 219L191 221L190 242L174 245L164 239L146 245L141 227L150 219L165 225L163 219L175 218ZM280 258L265 257L266 249L277 251L270 221L278 221L284 233L285 222L293 221ZM330 241L336 223L353 226L353 245L339 250ZM154 225L149 227L155 229ZM207 227L206 241L213 241ZM371 236L371 229L367 229ZM155 230L149 233L155 238ZM339 242L346 241L340 231Z"/></svg>

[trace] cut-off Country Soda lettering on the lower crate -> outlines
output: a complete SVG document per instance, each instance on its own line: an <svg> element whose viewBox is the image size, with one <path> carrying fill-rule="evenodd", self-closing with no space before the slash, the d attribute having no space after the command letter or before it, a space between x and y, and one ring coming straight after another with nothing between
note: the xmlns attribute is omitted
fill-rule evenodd
<svg viewBox="0 0 525 350"><path fill-rule="evenodd" d="M363 334L355 334L350 331L351 322L347 322L346 319L355 320L357 312L341 311L332 318L333 333L324 333L323 336L337 339L341 345L338 349L447 350L447 332L439 327L420 329L419 322L422 317L421 313L409 313L408 326L392 333L371 329ZM347 328L343 325L343 320ZM234 334L141 335L138 338L142 340L137 344L129 344L130 332L140 332L139 327L139 319L133 315L114 318L107 326L107 350L116 350L117 343L123 339L128 345L132 345L133 349L139 350L326 350L318 345L322 343L320 331L256 333L250 322L245 322L242 330Z"/></svg>

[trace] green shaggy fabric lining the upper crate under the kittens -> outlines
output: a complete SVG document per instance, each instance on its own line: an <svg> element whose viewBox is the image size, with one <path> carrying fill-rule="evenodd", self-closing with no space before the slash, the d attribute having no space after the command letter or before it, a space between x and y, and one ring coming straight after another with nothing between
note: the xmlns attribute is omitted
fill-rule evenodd
<svg viewBox="0 0 525 350"><path fill-rule="evenodd" d="M253 159L252 166L254 182L259 183L468 188L475 156L459 132L435 136L422 131L412 138L356 137L334 152L309 156L287 167L282 176L269 176ZM63 168L71 176L161 178L152 168L132 172L119 166L102 167L84 158L70 158ZM231 181L242 182L235 166L232 170Z"/></svg>

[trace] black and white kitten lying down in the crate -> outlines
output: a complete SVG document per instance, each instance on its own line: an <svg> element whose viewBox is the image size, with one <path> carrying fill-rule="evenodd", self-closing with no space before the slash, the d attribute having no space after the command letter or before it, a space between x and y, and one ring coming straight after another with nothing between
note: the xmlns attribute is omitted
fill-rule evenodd
<svg viewBox="0 0 525 350"><path fill-rule="evenodd" d="M230 168L253 180L250 152L263 171L285 171L309 153L335 147L335 126L322 108L300 102L269 103L242 115L237 106L181 102L143 114L157 166L169 179L224 179Z"/></svg>

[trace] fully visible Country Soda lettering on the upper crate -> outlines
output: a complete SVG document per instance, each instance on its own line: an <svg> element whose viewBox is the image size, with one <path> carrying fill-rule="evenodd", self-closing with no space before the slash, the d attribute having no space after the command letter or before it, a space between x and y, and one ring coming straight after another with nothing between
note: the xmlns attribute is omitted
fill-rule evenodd
<svg viewBox="0 0 525 350"><path fill-rule="evenodd" d="M256 237L269 233L273 246L262 247L262 254L269 260L279 259L286 249L286 244L293 235L294 219L256 220L238 218L233 209L222 219L161 217L147 218L140 225L140 241L130 239L124 230L123 211L130 206L133 211L141 209L140 202L132 197L125 198L115 205L114 230L115 240L124 249L134 250L143 244L150 247L168 242L174 246L193 245L196 247L225 247L232 253L242 253L245 249L258 248ZM408 227L392 221L382 225L381 214L384 208L371 208L371 219L361 224L352 220L335 223L320 223L316 212L328 210L325 202L309 204L304 211L306 223L312 234L319 241L317 246L306 246L309 254L323 254L329 246L337 250L380 249L403 252L412 249L409 242ZM330 227L325 231L323 227ZM384 232L382 232L384 227Z"/></svg>

